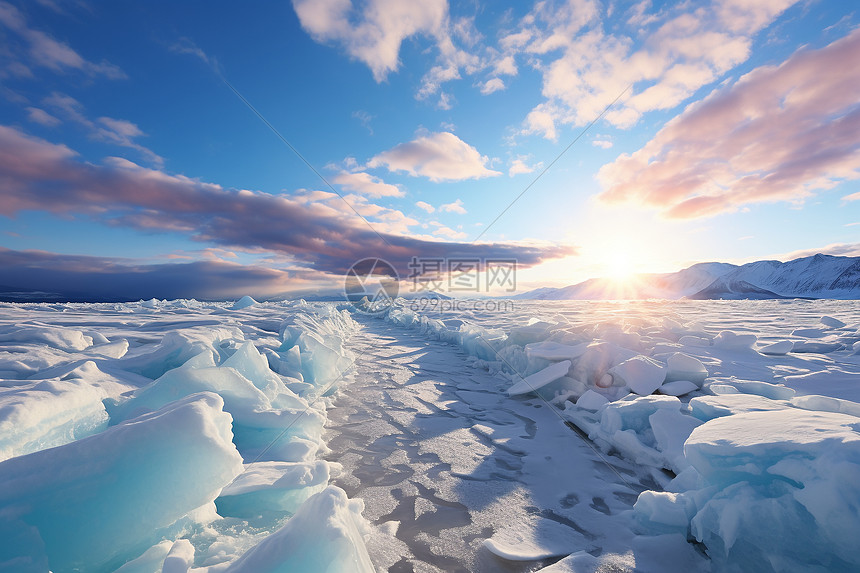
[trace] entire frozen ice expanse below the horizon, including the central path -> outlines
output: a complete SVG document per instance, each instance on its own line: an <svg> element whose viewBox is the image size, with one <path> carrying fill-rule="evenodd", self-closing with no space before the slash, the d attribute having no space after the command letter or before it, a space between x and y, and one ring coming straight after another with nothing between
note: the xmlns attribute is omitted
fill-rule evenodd
<svg viewBox="0 0 860 573"><path fill-rule="evenodd" d="M0 305L0 571L856 571L860 304Z"/></svg>

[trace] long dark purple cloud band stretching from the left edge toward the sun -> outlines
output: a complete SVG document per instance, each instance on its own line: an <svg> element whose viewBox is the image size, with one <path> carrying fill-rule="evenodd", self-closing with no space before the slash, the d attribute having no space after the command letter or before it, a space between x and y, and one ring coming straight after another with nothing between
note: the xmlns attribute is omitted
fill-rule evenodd
<svg viewBox="0 0 860 573"><path fill-rule="evenodd" d="M413 256L516 258L523 267L569 256L564 245L464 244L428 241L388 229L414 220L401 212L347 199L374 229L334 193L272 195L220 185L109 158L87 163L64 145L0 126L0 214L23 210L86 215L108 225L175 232L213 246L280 253L325 273L343 273L377 256L405 274Z"/></svg>

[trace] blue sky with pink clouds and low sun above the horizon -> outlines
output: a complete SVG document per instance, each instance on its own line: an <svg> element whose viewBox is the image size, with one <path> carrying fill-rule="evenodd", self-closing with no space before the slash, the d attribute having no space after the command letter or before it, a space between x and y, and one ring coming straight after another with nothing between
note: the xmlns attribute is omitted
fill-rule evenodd
<svg viewBox="0 0 860 573"><path fill-rule="evenodd" d="M0 286L268 297L379 258L513 260L524 291L860 255L858 24L823 0L0 0Z"/></svg>

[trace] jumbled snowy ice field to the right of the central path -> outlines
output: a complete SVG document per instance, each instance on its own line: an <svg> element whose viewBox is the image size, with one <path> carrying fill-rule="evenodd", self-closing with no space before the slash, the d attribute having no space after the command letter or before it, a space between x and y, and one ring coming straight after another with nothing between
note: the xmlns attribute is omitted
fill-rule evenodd
<svg viewBox="0 0 860 573"><path fill-rule="evenodd" d="M454 319L402 304L384 318L457 345L513 399L537 394L651 468L665 491L639 495L636 543L699 542L716 571L860 569L856 302L627 303L598 321L588 303L519 308ZM580 552L546 571L607 565Z"/></svg>

